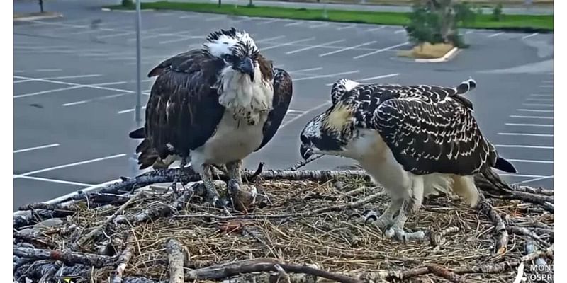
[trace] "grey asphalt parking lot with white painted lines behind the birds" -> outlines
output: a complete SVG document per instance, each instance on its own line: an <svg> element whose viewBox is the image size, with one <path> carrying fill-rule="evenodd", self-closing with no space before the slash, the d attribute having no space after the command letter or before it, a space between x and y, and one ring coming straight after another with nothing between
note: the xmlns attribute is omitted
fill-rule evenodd
<svg viewBox="0 0 567 283"><path fill-rule="evenodd" d="M15 207L134 173L134 21L134 13L84 9L14 23ZM245 161L249 168L301 160L298 134L329 105L337 79L456 86L472 77L478 86L469 98L483 133L519 170L507 180L553 187L552 34L463 30L471 47L449 62L424 64L396 56L408 37L395 26L144 11L142 103L153 81L147 71L230 26L251 33L294 83L279 133ZM306 168L352 163L325 157Z"/></svg>

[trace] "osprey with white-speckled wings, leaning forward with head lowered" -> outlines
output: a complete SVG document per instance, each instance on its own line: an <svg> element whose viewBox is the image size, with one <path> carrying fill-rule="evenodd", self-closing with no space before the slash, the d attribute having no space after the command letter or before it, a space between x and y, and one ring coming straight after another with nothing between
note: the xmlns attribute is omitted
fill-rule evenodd
<svg viewBox="0 0 567 283"><path fill-rule="evenodd" d="M332 86L332 106L301 132L301 156L359 161L392 199L376 224L382 231L391 227L386 236L402 239L405 221L423 197L455 192L474 207L480 197L474 175L503 192L507 186L491 168L516 172L478 128L472 103L463 96L475 87L472 79L456 88L339 80Z"/></svg>

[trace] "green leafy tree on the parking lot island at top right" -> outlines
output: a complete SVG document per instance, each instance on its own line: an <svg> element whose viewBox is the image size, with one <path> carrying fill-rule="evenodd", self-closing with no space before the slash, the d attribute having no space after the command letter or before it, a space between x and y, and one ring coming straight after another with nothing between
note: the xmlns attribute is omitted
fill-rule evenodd
<svg viewBox="0 0 567 283"><path fill-rule="evenodd" d="M405 30L410 41L416 45L430 42L466 47L457 25L471 23L475 16L466 3L454 4L452 0L420 0L413 6L410 23Z"/></svg>

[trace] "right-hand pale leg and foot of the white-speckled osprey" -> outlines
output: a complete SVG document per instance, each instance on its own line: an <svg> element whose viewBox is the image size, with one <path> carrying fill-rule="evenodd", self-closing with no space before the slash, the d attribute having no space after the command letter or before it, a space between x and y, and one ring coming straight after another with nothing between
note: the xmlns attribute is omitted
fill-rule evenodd
<svg viewBox="0 0 567 283"><path fill-rule="evenodd" d="M398 216L393 219L392 226L386 231L386 238L395 238L398 241L420 241L425 238L425 233L423 231L417 231L413 233L405 233L404 226L405 221L408 220L410 216L417 209L420 209L423 201L423 178L421 176L415 176L412 187L410 189L410 196L403 200L402 207Z"/></svg>

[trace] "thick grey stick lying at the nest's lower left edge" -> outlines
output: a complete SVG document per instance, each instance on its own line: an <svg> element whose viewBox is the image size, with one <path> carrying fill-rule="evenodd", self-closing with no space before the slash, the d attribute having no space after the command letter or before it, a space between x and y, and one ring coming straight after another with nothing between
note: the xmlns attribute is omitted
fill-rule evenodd
<svg viewBox="0 0 567 283"><path fill-rule="evenodd" d="M77 253L68 250L43 250L39 248L13 247L13 254L21 258L34 258L36 260L61 260L67 265L77 263L94 267L103 267L114 258L106 255L94 255L92 253Z"/></svg>

